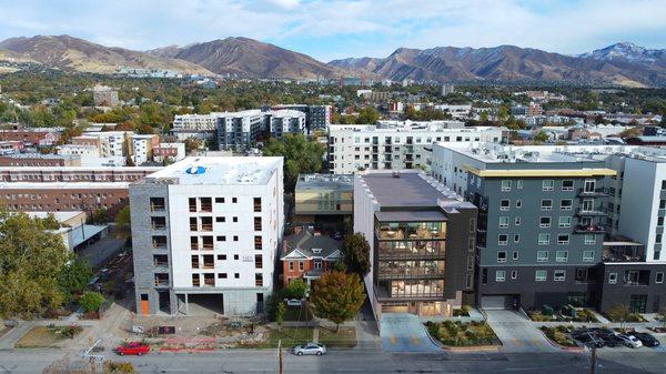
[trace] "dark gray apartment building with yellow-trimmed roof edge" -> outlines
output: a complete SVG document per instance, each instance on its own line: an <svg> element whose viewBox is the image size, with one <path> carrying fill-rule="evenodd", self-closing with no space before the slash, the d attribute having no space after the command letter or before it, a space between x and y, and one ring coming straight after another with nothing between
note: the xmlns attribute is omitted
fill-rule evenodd
<svg viewBox="0 0 666 374"><path fill-rule="evenodd" d="M596 305L616 171L592 156L493 143L437 143L433 176L478 206L476 303Z"/></svg>

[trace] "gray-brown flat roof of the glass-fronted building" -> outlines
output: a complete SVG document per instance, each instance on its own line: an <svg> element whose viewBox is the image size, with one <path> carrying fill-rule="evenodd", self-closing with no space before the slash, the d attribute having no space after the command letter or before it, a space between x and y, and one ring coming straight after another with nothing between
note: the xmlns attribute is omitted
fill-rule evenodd
<svg viewBox="0 0 666 374"><path fill-rule="evenodd" d="M382 208L440 206L442 200L463 204L463 199L457 193L434 179L426 181L420 172L369 172L361 178Z"/></svg>

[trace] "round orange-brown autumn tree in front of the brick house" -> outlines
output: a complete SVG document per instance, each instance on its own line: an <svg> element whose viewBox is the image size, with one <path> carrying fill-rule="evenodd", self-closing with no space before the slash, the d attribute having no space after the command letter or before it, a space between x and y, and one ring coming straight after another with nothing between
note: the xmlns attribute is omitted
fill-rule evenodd
<svg viewBox="0 0 666 374"><path fill-rule="evenodd" d="M313 312L336 325L352 320L363 306L365 290L357 274L325 272L315 283L311 294Z"/></svg>

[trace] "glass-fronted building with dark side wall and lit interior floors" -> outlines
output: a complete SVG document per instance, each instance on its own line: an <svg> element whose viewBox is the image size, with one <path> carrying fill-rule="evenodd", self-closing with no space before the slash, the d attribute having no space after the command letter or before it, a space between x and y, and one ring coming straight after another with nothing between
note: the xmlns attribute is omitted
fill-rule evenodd
<svg viewBox="0 0 666 374"><path fill-rule="evenodd" d="M477 209L415 170L367 171L354 180L354 231L371 247L365 286L383 313L451 316L474 302Z"/></svg>

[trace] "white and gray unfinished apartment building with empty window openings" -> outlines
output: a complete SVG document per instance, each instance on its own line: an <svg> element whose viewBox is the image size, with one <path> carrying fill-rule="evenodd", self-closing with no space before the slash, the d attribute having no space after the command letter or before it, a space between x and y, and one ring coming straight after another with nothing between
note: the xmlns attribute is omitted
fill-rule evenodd
<svg viewBox="0 0 666 374"><path fill-rule="evenodd" d="M139 313L263 312L284 228L282 166L186 158L131 184Z"/></svg>

